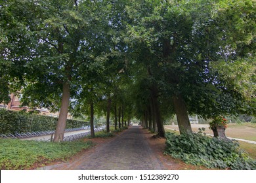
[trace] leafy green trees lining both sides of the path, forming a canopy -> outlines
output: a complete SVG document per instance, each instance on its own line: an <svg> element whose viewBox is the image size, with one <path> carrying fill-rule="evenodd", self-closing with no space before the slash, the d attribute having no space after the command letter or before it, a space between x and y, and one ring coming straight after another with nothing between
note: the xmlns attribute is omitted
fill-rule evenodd
<svg viewBox="0 0 256 183"><path fill-rule="evenodd" d="M182 133L188 114L255 115L254 9L253 0L3 1L0 101L20 90L23 105L60 108L55 142L68 111L91 123L106 112L107 131L110 114L116 127L117 116L135 116L160 136L173 114Z"/></svg>

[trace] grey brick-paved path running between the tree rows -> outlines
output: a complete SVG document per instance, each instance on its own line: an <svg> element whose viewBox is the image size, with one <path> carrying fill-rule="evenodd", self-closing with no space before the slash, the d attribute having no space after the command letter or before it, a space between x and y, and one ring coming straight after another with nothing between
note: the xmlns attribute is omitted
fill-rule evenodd
<svg viewBox="0 0 256 183"><path fill-rule="evenodd" d="M160 159L156 157L146 141L141 127L132 126L113 141L96 148L89 155L81 155L68 163L43 167L41 169L70 170L154 170L163 169Z"/></svg>

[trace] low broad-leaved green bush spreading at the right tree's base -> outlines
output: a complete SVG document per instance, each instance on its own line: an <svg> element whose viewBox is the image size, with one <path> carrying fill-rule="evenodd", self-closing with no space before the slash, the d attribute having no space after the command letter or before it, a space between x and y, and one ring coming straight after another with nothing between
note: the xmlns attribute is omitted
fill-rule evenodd
<svg viewBox="0 0 256 183"><path fill-rule="evenodd" d="M165 133L165 154L192 165L219 169L256 169L256 160L239 148L238 142L211 138L199 133Z"/></svg>

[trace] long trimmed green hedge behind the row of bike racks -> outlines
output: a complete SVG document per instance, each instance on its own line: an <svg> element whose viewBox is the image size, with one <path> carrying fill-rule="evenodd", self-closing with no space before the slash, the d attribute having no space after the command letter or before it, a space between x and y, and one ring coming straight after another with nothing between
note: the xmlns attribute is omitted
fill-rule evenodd
<svg viewBox="0 0 256 183"><path fill-rule="evenodd" d="M32 131L55 130L58 118L0 109L0 133L27 133ZM82 127L89 122L67 120L66 128Z"/></svg>

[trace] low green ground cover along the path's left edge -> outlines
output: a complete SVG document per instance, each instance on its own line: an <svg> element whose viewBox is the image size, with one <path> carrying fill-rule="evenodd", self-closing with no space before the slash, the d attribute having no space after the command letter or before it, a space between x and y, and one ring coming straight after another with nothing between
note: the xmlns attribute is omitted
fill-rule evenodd
<svg viewBox="0 0 256 183"><path fill-rule="evenodd" d="M92 142L83 141L54 143L0 139L0 168L33 169L52 161L65 161L92 145Z"/></svg>

